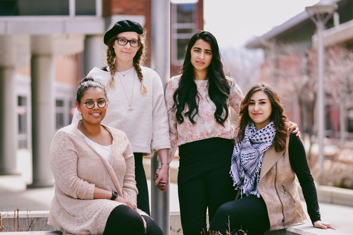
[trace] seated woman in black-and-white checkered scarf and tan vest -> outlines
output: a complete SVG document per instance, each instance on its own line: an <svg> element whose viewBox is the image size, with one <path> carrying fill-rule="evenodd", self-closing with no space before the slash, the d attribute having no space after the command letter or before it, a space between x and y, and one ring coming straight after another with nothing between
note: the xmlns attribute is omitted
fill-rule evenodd
<svg viewBox="0 0 353 235"><path fill-rule="evenodd" d="M305 223L296 175L313 225L334 229L320 219L303 143L299 137L289 136L288 120L276 92L266 84L252 87L241 104L239 122L230 174L240 199L218 208L210 234L246 231L262 235L267 229Z"/></svg>

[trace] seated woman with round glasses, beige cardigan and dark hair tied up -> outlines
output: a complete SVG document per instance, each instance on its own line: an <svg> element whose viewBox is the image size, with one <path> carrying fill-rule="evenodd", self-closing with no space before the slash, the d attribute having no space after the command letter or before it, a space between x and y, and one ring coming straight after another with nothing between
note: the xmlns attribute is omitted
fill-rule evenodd
<svg viewBox="0 0 353 235"><path fill-rule="evenodd" d="M56 132L50 144L55 179L48 220L64 234L153 234L158 225L136 208L134 155L124 132L101 125L104 86L82 80L76 92L82 120Z"/></svg>

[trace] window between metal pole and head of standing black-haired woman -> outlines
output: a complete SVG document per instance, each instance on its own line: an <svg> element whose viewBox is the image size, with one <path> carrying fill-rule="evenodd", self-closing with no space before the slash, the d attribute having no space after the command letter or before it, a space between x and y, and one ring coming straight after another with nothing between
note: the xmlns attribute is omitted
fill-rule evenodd
<svg viewBox="0 0 353 235"><path fill-rule="evenodd" d="M173 4L171 6L173 12L172 18L172 59L180 61L184 58L184 53L188 46L190 38L196 32L196 4Z"/></svg>

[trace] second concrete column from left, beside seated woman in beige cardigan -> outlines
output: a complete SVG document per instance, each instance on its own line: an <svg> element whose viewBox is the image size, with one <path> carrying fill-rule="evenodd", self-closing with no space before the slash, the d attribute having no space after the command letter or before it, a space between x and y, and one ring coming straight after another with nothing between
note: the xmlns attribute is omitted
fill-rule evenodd
<svg viewBox="0 0 353 235"><path fill-rule="evenodd" d="M55 132L54 70L51 54L32 55L31 78L33 182L28 187L49 187L54 185L49 146Z"/></svg>

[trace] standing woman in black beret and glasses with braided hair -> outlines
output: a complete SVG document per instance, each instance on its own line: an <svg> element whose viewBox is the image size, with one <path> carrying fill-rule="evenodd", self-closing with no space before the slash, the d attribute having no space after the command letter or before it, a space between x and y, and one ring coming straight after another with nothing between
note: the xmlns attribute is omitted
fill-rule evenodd
<svg viewBox="0 0 353 235"><path fill-rule="evenodd" d="M107 67L93 68L88 76L106 84L109 108L103 124L122 130L128 136L135 156L137 207L150 214L144 153L158 151L159 168L155 184L166 191L170 148L168 116L162 82L158 74L141 66L145 50L145 30L137 22L122 20L104 35ZM80 119L76 110L73 122Z"/></svg>

